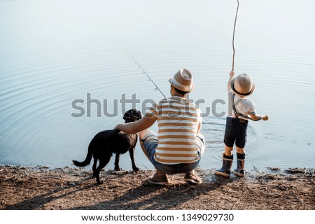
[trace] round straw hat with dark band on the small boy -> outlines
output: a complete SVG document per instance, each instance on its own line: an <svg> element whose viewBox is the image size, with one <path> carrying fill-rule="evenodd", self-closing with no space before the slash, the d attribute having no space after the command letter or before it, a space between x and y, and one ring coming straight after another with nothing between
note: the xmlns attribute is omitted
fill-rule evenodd
<svg viewBox="0 0 315 224"><path fill-rule="evenodd" d="M232 91L241 97L249 96L255 90L255 85L253 84L253 80L251 80L251 76L248 76L245 73L232 78L230 83Z"/></svg>

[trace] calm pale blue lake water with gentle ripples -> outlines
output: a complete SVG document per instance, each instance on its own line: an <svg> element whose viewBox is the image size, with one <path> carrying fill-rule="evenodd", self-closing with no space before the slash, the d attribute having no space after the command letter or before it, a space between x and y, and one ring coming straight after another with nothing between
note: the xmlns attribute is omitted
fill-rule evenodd
<svg viewBox="0 0 315 224"><path fill-rule="evenodd" d="M250 98L270 117L249 125L246 169L314 168L315 3L239 1L235 71L252 76ZM0 164L72 166L94 134L123 123L124 96L135 94L141 111L148 99L162 99L127 49L167 96L167 78L182 67L193 72L190 99L204 100L204 113L211 108L200 166L221 167L225 116L216 113L227 104L213 103L227 99L236 7L236 0L1 0ZM100 116L96 103L87 113L88 97L102 102ZM76 104L83 116L71 116L80 112L76 100L84 100ZM131 169L129 155L120 163ZM139 145L136 163L153 168Z"/></svg>

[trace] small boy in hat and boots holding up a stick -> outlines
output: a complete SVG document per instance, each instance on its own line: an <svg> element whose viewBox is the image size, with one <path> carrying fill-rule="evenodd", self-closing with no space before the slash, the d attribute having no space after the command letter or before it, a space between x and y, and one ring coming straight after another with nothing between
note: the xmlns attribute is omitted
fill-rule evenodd
<svg viewBox="0 0 315 224"><path fill-rule="evenodd" d="M248 120L268 120L267 115L256 114L255 104L247 96L253 93L255 85L247 74L235 77L235 71L230 71L228 81L228 117L226 118L223 154L223 166L215 174L229 177L233 162L233 146L237 148L237 169L233 173L239 177L244 176L244 162L246 144L246 130Z"/></svg>

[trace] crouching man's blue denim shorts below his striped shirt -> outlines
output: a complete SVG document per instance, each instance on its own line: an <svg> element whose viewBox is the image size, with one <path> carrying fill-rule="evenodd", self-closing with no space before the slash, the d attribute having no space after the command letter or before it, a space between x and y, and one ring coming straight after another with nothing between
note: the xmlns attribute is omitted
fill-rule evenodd
<svg viewBox="0 0 315 224"><path fill-rule="evenodd" d="M164 163L160 163L155 160L155 148L158 147L158 137L154 134L150 134L146 137L144 137L144 140L141 140L144 148L146 149L146 152L148 153L148 157L150 158L150 161L152 162L153 166L160 170L160 172L163 172L165 174L186 174L193 169L197 167L200 160L193 163L180 163L175 165L167 165ZM202 158L202 155L204 153L204 137L202 134L197 135L197 147L198 147L198 154L199 157Z"/></svg>

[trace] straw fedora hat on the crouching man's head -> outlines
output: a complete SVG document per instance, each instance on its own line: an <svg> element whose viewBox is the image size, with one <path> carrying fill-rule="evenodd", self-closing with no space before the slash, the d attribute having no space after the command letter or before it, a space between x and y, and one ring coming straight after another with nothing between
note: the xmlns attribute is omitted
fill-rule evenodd
<svg viewBox="0 0 315 224"><path fill-rule="evenodd" d="M169 83L184 92L190 92L195 88L193 74L188 69L177 71L174 77L169 78Z"/></svg>

